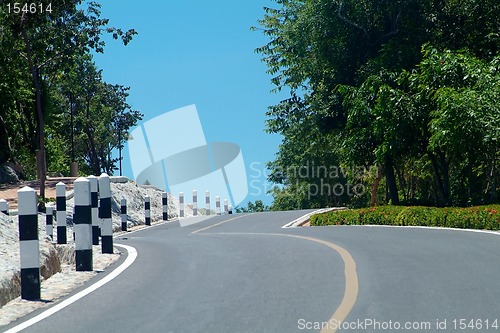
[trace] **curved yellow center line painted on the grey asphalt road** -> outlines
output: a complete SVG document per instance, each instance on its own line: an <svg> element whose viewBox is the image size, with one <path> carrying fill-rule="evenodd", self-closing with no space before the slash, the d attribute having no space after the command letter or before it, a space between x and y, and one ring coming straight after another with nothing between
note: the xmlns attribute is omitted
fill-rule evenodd
<svg viewBox="0 0 500 333"><path fill-rule="evenodd" d="M236 219L236 218L234 218ZM234 220L231 219L231 220ZM229 222L231 220L227 220L224 222ZM224 222L218 223L222 224ZM209 228L215 227L217 224L214 224L213 226L203 228L200 230L197 230L192 233L198 233L204 230L207 230ZM342 298L342 301L340 302L340 305L337 307L335 312L332 314L330 319L328 320L328 323L337 323L339 324L340 322L344 321L345 318L347 318L347 315L351 312L352 308L354 307L354 304L356 303L356 299L358 298L358 292L359 292L359 281L358 281L358 273L356 270L356 262L354 261L354 258L352 255L344 249L343 247L336 245L332 242L328 242L322 239L318 238L313 238L313 237L306 237L306 236L298 236L298 235L289 235L289 234L277 234L277 233L214 233L214 234L219 234L219 235L262 235L262 236L285 236L285 237L293 237L293 238L299 238L299 239L304 239L312 242L316 242L325 246L328 246L329 248L333 249L336 251L340 257L342 258L342 261L344 262L344 276L345 276L345 291L344 291L344 297ZM211 234L205 234L205 235L211 235ZM337 332L336 326L339 325L325 325L321 330L321 333L335 333Z"/></svg>

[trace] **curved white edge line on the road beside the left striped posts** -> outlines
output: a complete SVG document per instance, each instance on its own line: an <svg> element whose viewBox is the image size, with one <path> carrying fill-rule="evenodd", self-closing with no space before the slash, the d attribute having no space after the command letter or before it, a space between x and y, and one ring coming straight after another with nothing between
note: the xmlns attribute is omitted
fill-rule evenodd
<svg viewBox="0 0 500 333"><path fill-rule="evenodd" d="M93 285L91 285L90 287L88 287L87 289L84 289L82 291L80 291L79 293L71 296L70 298L62 301L61 303L57 304L57 305L54 305L53 307L51 307L50 309L40 313L39 315L31 318L30 320L27 320L25 321L24 323L21 323L11 329L9 329L8 331L5 331L4 333L17 333L17 332L20 332L36 323L38 323L39 321L42 321L50 316L52 316L54 313L64 309L65 307L67 307L68 305L71 305L73 304L74 302L78 301L79 299L87 296L88 294L90 294L91 292L94 292L96 291L97 289L99 289L100 287L104 286L106 283L110 282L111 280L113 280L114 278L116 278L118 275L120 275L121 273L123 273L123 271L125 271L128 267L130 267L130 265L132 265L135 261L135 259L137 258L137 250L132 247L132 246L128 246L128 245L123 245L123 244L115 244L115 246L118 246L118 247L122 247L124 248L125 250L127 250L127 258L125 259L125 261L117 268L115 268L111 273L109 273L106 277L104 277L103 279L99 280L98 282L94 283Z"/></svg>

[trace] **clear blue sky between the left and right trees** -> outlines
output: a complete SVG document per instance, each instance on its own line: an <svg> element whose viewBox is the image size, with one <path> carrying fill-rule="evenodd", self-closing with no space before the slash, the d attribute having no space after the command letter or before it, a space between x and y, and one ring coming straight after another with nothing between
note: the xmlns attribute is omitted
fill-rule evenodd
<svg viewBox="0 0 500 333"><path fill-rule="evenodd" d="M270 204L264 166L273 160L279 135L264 132L267 107L285 98L270 90L271 76L255 48L268 42L250 31L271 0L132 0L102 2L110 26L133 28L128 45L107 42L96 55L105 81L130 86L129 104L144 121L196 104L208 142L240 145L249 195ZM132 177L127 149L123 173ZM258 177L260 176L260 177Z"/></svg>

